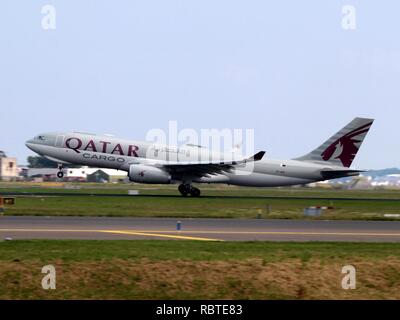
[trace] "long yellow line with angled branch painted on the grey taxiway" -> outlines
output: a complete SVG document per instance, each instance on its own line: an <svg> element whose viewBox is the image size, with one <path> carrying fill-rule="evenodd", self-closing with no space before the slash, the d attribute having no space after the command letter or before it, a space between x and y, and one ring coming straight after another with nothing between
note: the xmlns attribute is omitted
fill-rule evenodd
<svg viewBox="0 0 400 320"><path fill-rule="evenodd" d="M221 239L191 237L185 234L232 234L232 235L304 235L304 236L366 236L366 237L400 237L400 233L375 233L375 232L308 232L308 231L218 231L218 230L104 230L104 229L0 229L0 232L101 232L119 233L154 237L165 237L187 240L223 241ZM166 233L166 234L165 234Z"/></svg>

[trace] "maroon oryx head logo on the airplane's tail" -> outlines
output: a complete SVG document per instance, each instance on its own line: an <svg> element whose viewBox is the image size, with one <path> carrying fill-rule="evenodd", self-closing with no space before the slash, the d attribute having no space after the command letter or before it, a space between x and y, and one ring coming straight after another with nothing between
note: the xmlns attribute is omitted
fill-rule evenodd
<svg viewBox="0 0 400 320"><path fill-rule="evenodd" d="M367 133L371 125L372 122L365 124L337 139L321 154L322 159L325 161L340 159L343 166L350 167L360 147L359 143L362 142L365 135L359 136Z"/></svg>

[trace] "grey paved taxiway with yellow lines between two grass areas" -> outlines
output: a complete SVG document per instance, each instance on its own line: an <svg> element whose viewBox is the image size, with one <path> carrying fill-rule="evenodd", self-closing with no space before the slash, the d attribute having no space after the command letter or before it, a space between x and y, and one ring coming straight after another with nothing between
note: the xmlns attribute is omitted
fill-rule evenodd
<svg viewBox="0 0 400 320"><path fill-rule="evenodd" d="M400 221L2 216L5 238L400 242Z"/></svg>

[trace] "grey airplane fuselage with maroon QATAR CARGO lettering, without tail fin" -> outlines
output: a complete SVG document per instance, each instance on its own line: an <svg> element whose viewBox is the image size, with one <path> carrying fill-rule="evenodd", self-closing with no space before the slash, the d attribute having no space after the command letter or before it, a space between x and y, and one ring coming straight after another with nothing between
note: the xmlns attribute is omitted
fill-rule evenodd
<svg viewBox="0 0 400 320"><path fill-rule="evenodd" d="M133 164L162 167L168 162L226 160L235 154L184 145L168 146L85 133L44 133L26 142L28 148L55 162L112 168L129 172ZM262 159L234 166L231 172L193 179L198 183L274 187L325 180L321 171L343 169L328 163ZM175 179L172 179L173 181Z"/></svg>

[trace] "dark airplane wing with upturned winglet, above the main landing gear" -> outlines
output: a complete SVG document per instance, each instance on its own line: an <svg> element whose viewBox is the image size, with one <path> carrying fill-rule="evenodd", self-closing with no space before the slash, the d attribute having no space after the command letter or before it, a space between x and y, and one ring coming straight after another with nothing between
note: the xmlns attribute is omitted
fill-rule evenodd
<svg viewBox="0 0 400 320"><path fill-rule="evenodd" d="M260 151L254 156L238 161L188 161L168 162L161 166L174 176L203 177L223 172L230 172L235 165L261 160L265 151Z"/></svg>

